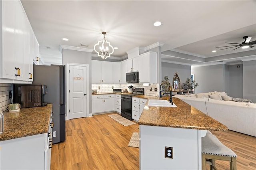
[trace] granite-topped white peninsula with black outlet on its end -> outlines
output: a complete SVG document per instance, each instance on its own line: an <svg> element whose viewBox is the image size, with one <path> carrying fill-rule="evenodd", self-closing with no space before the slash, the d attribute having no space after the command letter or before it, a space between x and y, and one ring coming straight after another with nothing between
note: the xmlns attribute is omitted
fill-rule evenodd
<svg viewBox="0 0 256 170"><path fill-rule="evenodd" d="M143 97L143 96L136 96ZM228 128L178 98L173 107L144 107L140 125L140 169L201 170L201 138ZM168 150L166 147L172 148ZM166 155L171 158L166 158Z"/></svg>

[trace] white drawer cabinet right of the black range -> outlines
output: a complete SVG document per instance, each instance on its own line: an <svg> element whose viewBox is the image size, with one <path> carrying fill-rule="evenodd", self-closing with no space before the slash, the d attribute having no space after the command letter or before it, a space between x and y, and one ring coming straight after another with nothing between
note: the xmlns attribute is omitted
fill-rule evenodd
<svg viewBox="0 0 256 170"><path fill-rule="evenodd" d="M145 107L147 99L132 97L132 119L139 121L140 115Z"/></svg>

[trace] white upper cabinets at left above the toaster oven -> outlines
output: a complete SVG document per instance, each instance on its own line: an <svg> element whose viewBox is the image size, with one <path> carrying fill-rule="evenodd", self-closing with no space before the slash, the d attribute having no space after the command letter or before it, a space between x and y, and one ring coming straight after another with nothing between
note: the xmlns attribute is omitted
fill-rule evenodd
<svg viewBox="0 0 256 170"><path fill-rule="evenodd" d="M2 83L31 83L33 73L31 26L20 1L0 1ZM39 51L39 48L38 48Z"/></svg>

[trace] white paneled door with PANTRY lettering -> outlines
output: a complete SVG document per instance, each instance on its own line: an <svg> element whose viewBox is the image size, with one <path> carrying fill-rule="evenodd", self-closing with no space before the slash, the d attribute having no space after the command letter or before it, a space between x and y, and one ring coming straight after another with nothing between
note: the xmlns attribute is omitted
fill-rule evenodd
<svg viewBox="0 0 256 170"><path fill-rule="evenodd" d="M69 65L69 119L87 116L88 65Z"/></svg>

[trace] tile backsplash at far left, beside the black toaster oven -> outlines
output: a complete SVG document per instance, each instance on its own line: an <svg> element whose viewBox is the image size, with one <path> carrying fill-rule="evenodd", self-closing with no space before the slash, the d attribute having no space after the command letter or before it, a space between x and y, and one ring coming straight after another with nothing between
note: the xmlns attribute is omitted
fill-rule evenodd
<svg viewBox="0 0 256 170"><path fill-rule="evenodd" d="M7 106L12 103L9 92L12 93L12 84L0 83L0 111L5 111Z"/></svg>

